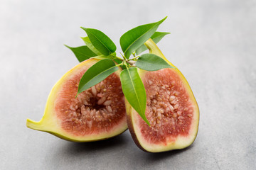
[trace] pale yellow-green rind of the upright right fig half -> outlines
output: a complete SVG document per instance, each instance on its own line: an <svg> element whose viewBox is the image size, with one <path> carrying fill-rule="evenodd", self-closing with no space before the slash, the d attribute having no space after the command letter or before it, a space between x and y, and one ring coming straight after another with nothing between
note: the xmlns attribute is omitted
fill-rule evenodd
<svg viewBox="0 0 256 170"><path fill-rule="evenodd" d="M175 67L174 64L171 64L168 60L166 60L166 57L162 54L162 52L159 50L159 48L156 46L153 40L149 39L145 42L146 47L148 47L149 52L158 55L159 57L162 57L167 63L169 63L171 66ZM175 67L176 68L176 67ZM139 69L139 76L142 78L142 81L144 81L144 75L147 71ZM178 135L174 141L167 141L166 145L162 144L153 144L149 143L142 137L142 132L139 127L138 123L138 113L134 111L132 106L129 104L128 101L125 101L125 106L127 110L127 125L129 128L129 132L132 135L132 138L140 149L142 149L145 152L166 152L173 149L183 149L188 146L190 146L194 140L196 140L196 135L198 133L198 125L199 125L199 108L198 104L196 102L196 98L193 96L193 92L191 90L191 87L188 84L188 81L186 81L186 78L183 76L183 74L176 68L175 69L176 74L178 74L178 77L181 78L183 81L183 85L186 87L186 91L189 94L189 98L193 103L193 121L191 128L189 130L188 137L182 137ZM144 134L149 135L150 134Z"/></svg>

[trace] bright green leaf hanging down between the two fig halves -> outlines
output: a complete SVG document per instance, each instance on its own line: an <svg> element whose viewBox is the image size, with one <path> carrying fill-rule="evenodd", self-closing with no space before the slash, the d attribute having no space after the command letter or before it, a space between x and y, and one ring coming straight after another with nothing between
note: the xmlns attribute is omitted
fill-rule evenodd
<svg viewBox="0 0 256 170"><path fill-rule="evenodd" d="M127 101L131 104L142 119L150 126L146 119L146 90L136 67L124 69L120 74L122 91Z"/></svg>

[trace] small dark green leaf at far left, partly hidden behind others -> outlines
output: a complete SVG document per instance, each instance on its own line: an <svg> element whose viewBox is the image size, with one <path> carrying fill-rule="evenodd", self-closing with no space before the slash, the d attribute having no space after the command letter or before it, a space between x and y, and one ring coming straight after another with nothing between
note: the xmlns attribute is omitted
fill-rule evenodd
<svg viewBox="0 0 256 170"><path fill-rule="evenodd" d="M90 57L97 56L86 45L80 46L80 47L70 47L68 45L65 45L65 46L68 47L70 50L72 50L74 52L75 57L77 57L79 62L85 61L85 60L89 59Z"/></svg>

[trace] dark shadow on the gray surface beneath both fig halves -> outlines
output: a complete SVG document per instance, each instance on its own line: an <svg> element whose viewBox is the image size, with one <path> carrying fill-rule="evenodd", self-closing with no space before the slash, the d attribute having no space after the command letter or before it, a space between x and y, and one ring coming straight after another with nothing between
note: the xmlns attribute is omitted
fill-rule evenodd
<svg viewBox="0 0 256 170"><path fill-rule="evenodd" d="M105 151L120 150L127 154L127 159L140 159L141 162L159 162L163 159L169 159L176 157L183 152L187 152L193 147L193 145L186 147L185 149L177 149L168 152L150 153L144 152L130 139L129 132L124 132L121 135L112 137L107 140L100 140L95 142L66 142L64 146L59 150L61 153L68 155L80 155L80 154L100 154ZM133 145L133 146L128 146ZM127 150L129 148L129 150Z"/></svg>

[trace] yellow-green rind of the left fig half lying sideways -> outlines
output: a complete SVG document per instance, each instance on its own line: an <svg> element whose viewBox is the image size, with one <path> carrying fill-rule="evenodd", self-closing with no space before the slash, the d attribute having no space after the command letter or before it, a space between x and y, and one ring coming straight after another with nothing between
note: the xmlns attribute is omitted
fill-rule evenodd
<svg viewBox="0 0 256 170"><path fill-rule="evenodd" d="M73 135L72 133L63 130L63 128L61 127L61 122L58 119L57 115L55 114L54 103L56 100L58 100L57 98L58 93L63 88L62 86L65 83L65 81L68 81L68 78L72 77L73 74L79 71L79 69L83 69L83 68L88 69L98 61L99 60L97 59L85 60L84 62L81 62L80 64L76 65L75 67L73 67L73 69L70 69L70 71L64 74L63 77L61 77L61 79L53 86L53 89L50 91L43 118L41 118L41 120L38 122L27 119L26 126L33 130L48 132L52 135L60 137L63 140L68 140L73 142L92 142L97 140L105 140L110 137L117 136L122 132L124 132L125 130L127 130L127 120L124 115L124 118L120 120L118 125L114 126L111 132L102 132L100 134L92 133L90 135L84 135L84 136ZM119 73L121 71L122 69L119 68L119 70L114 74L116 74L119 77Z"/></svg>

